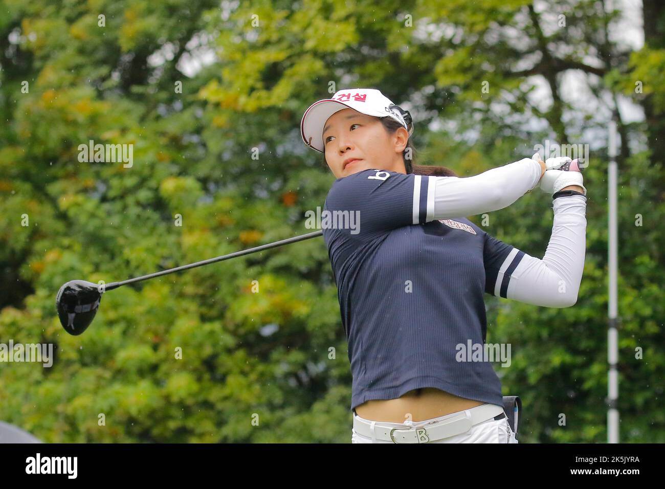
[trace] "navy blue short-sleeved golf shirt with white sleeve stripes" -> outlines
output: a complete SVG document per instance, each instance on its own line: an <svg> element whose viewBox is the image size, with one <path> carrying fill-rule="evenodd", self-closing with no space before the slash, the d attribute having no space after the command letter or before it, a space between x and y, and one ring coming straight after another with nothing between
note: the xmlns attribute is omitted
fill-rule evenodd
<svg viewBox="0 0 665 489"><path fill-rule="evenodd" d="M446 177L364 170L335 180L325 200L352 409L421 387L503 405L491 362L456 358L458 345L485 343L483 294L505 297L524 253L462 216L435 219L432 178Z"/></svg>

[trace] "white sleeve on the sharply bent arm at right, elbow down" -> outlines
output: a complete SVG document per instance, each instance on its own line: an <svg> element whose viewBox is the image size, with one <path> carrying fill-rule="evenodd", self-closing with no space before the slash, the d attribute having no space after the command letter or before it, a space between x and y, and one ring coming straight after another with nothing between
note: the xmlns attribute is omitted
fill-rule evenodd
<svg viewBox="0 0 665 489"><path fill-rule="evenodd" d="M545 307L570 307L577 301L587 249L587 198L559 197L553 201L553 208L547 251L543 259L524 254L511 273L508 299ZM515 252L513 249L506 261L512 260ZM497 287L503 279L503 273L499 275Z"/></svg>

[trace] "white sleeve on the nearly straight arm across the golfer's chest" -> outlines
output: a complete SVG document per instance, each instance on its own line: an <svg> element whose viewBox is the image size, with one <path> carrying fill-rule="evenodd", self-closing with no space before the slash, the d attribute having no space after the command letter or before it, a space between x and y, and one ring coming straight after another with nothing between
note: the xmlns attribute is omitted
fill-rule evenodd
<svg viewBox="0 0 665 489"><path fill-rule="evenodd" d="M503 209L535 188L541 173L539 162L523 158L465 178L430 176L427 222ZM415 223L418 222L416 204L414 202Z"/></svg>

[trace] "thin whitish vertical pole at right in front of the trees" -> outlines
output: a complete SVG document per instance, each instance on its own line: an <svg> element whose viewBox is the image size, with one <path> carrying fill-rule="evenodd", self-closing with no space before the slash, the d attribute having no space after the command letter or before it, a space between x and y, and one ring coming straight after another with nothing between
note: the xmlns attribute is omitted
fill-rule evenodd
<svg viewBox="0 0 665 489"><path fill-rule="evenodd" d="M610 121L608 141L608 156L610 157L610 164L608 167L608 221L609 221L609 248L608 248L608 329L607 329L607 361L609 364L608 382L607 382L607 442L619 442L619 412L618 412L618 397L619 397L619 383L618 372L616 371L616 364L618 363L618 319L616 313L616 279L617 279L617 265L616 265L616 182L617 172L616 167L616 122ZM625 144L625 142L624 142Z"/></svg>

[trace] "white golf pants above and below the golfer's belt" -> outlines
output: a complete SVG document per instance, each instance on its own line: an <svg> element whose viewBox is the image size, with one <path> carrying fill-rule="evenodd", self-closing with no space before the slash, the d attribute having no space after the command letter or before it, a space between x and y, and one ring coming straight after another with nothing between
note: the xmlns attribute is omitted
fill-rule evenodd
<svg viewBox="0 0 665 489"><path fill-rule="evenodd" d="M450 414L445 414L444 416L438 416L436 418L431 418L424 421L414 421L412 424L420 424L422 422L432 422L442 419L449 418L450 416L455 416L460 412L452 412ZM354 416L358 416L355 412L352 412ZM358 416L360 418L360 416ZM365 419L365 418L360 418ZM371 420L369 420L371 422ZM388 426L389 428L406 428L412 425L406 423L398 422L376 422L374 426ZM372 440L367 436L362 436L361 434L356 433L354 428L351 428L351 443L392 443L388 440ZM471 429L467 433L456 434L455 436L450 436L449 438L442 438L441 440L432 440L428 443L517 443L517 438L515 438L515 433L510 429L510 424L508 418L501 418L495 420L489 418L487 421L475 424L471 426Z"/></svg>

